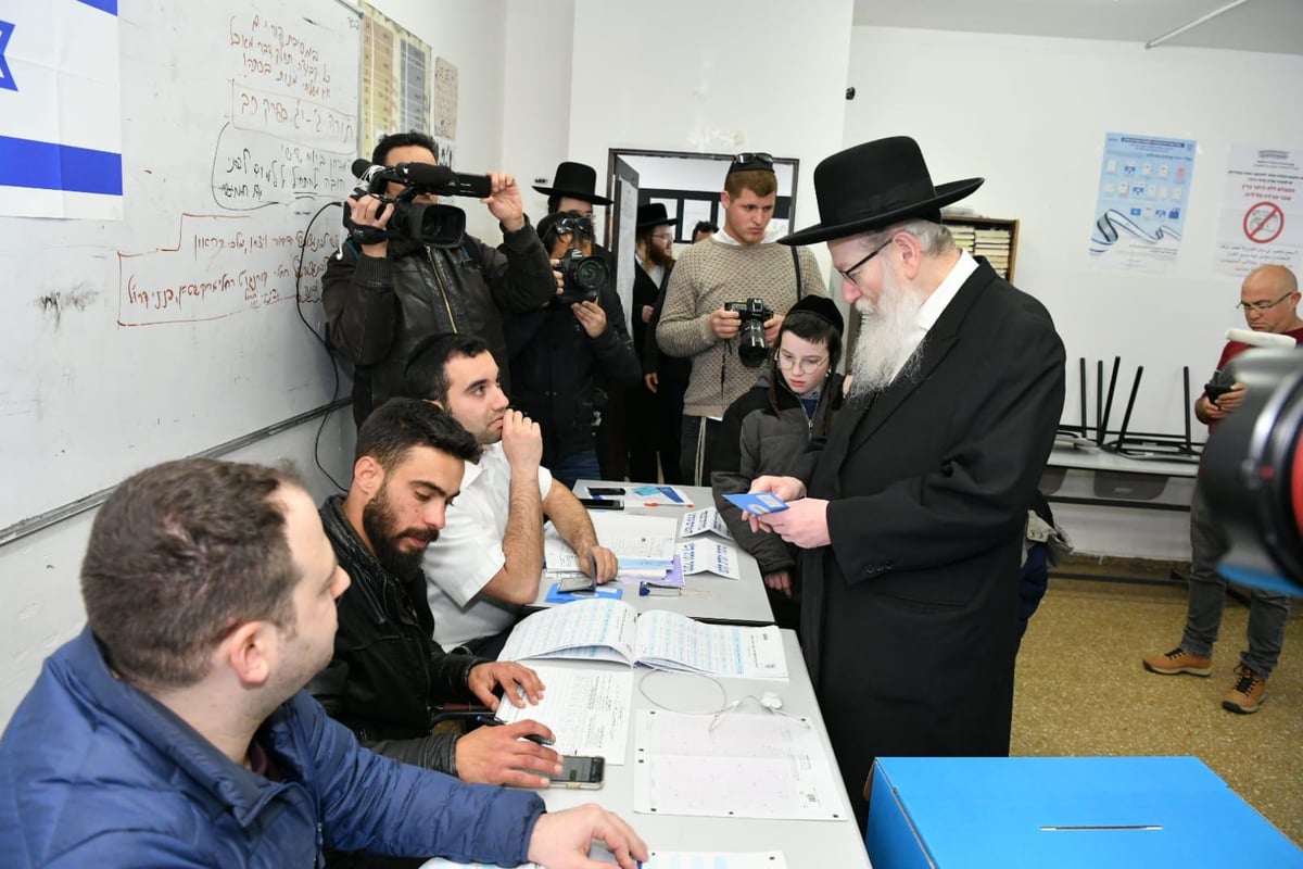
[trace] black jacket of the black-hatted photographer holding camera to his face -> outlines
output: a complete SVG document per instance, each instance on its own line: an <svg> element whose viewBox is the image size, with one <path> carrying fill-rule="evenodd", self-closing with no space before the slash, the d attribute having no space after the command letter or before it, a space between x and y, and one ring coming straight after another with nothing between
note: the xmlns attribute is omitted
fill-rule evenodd
<svg viewBox="0 0 1303 869"><path fill-rule="evenodd" d="M558 456L594 448L595 386L618 392L642 377L615 289L603 287L598 304L606 311L606 330L597 337L589 337L569 305L555 298L507 321L511 405L538 423L545 448Z"/></svg>

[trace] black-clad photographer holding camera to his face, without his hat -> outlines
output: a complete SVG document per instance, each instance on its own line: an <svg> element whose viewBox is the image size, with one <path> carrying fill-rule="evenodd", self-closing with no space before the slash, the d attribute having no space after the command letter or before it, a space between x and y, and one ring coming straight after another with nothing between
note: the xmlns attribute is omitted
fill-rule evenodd
<svg viewBox="0 0 1303 869"><path fill-rule="evenodd" d="M593 221L579 211L550 214L538 221L538 235L554 259L569 251L593 257ZM628 330L624 307L610 281L586 291L576 283L576 266L549 301L507 321L511 350L512 406L534 420L543 434L542 465L567 487L576 479L601 479L594 423L594 377L612 391L638 383L642 369Z"/></svg>

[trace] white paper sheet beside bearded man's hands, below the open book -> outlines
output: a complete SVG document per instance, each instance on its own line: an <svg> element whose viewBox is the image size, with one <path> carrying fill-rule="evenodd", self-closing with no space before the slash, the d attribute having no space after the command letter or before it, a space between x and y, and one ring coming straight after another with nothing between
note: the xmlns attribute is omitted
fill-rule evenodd
<svg viewBox="0 0 1303 869"><path fill-rule="evenodd" d="M498 718L508 724L533 718L551 728L556 752L595 754L607 763L623 765L629 748L633 671L546 666L534 671L543 680L543 698L524 709L504 700Z"/></svg>

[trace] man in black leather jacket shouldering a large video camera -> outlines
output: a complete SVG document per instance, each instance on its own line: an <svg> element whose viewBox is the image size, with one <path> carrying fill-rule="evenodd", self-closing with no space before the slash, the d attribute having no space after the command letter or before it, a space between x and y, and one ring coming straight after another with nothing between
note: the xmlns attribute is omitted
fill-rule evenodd
<svg viewBox="0 0 1303 869"><path fill-rule="evenodd" d="M386 135L371 163L434 165L434 139L414 132ZM469 235L456 248L390 235L375 244L349 240L327 262L322 279L326 334L331 347L353 365L357 425L401 387L408 354L429 335L482 337L506 374L503 315L536 310L556 291L551 262L525 218L516 180L500 173L489 177L493 193L481 202L502 224L500 253ZM397 195L401 189L390 182L387 194ZM417 202L433 199L422 195ZM347 207L360 227L383 229L394 214L370 194L349 197Z"/></svg>

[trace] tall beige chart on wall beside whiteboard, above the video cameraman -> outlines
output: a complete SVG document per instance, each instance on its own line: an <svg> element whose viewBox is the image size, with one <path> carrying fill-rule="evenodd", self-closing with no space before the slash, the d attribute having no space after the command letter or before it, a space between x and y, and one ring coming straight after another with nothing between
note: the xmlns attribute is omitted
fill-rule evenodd
<svg viewBox="0 0 1303 869"><path fill-rule="evenodd" d="M387 133L430 132L430 46L370 4L362 9L362 142L369 155Z"/></svg>

